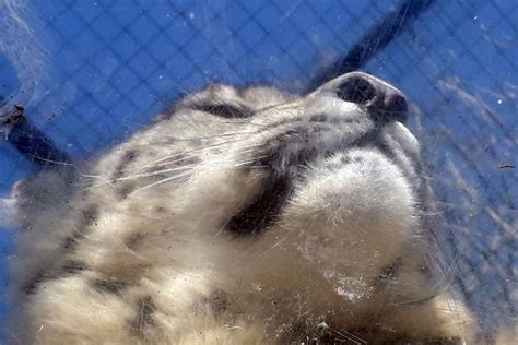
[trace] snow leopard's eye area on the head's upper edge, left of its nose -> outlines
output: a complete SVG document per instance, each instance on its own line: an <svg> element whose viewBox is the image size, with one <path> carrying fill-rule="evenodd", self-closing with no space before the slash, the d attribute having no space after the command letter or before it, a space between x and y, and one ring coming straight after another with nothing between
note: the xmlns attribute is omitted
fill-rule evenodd
<svg viewBox="0 0 518 345"><path fill-rule="evenodd" d="M184 98L179 108L189 108L209 112L223 118L249 118L254 111L249 109L240 95L240 91L235 87L213 84L205 90Z"/></svg>

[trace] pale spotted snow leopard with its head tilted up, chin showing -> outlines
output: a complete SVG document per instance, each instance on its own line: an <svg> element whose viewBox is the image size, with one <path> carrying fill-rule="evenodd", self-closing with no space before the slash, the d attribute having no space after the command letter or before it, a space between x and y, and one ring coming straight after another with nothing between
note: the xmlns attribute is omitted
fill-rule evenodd
<svg viewBox="0 0 518 345"><path fill-rule="evenodd" d="M463 344L409 103L212 84L21 182L23 344Z"/></svg>

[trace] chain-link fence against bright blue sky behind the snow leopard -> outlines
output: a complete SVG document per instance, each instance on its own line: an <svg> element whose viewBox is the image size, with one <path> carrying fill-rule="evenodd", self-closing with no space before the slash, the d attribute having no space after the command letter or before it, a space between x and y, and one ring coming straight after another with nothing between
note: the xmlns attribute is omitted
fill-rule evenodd
<svg viewBox="0 0 518 345"><path fill-rule="evenodd" d="M215 81L298 92L360 67L398 85L456 234L464 297L487 329L516 320L514 0L4 1L0 19L3 108L24 105L76 159ZM5 141L0 162L5 194L32 165ZM12 233L2 233L4 257Z"/></svg>

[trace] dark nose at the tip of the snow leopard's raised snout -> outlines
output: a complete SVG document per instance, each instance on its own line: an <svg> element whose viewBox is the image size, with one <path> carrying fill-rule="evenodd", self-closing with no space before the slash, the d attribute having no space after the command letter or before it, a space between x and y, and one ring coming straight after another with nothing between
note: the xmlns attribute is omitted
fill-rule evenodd
<svg viewBox="0 0 518 345"><path fill-rule="evenodd" d="M343 75L338 96L346 102L365 106L380 119L404 120L408 110L403 93L382 80L362 72Z"/></svg>

